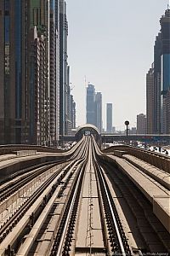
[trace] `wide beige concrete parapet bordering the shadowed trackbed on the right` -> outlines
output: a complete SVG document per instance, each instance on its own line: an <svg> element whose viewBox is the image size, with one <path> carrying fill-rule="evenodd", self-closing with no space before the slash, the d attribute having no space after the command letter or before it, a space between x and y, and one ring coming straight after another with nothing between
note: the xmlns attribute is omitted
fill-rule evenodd
<svg viewBox="0 0 170 256"><path fill-rule="evenodd" d="M118 166L133 181L152 204L153 212L161 221L161 224L170 232L170 195L168 190L162 189L158 183L154 183L144 172L127 160L116 157L113 154L107 154L105 160L107 159L110 159L110 162L112 161L114 165Z"/></svg>

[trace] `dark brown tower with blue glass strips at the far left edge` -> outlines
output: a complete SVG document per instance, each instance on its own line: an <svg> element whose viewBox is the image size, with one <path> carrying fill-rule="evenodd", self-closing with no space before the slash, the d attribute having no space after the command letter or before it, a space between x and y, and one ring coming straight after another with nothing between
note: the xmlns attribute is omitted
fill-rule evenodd
<svg viewBox="0 0 170 256"><path fill-rule="evenodd" d="M0 1L0 144L26 143L27 2Z"/></svg>

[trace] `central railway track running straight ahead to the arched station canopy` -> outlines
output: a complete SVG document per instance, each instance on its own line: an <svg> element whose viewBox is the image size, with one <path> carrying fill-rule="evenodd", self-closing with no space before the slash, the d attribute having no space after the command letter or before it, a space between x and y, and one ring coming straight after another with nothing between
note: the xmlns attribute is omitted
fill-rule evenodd
<svg viewBox="0 0 170 256"><path fill-rule="evenodd" d="M91 143L92 144L92 143ZM92 147L92 145L91 145ZM80 206L82 201L81 192L83 189L83 178L88 174L89 169L87 166L90 166L90 175L92 173L96 177L96 185L98 186L98 204L99 211L102 217L105 219L105 224L103 224L103 229L101 230L101 234L104 239L103 246L96 247L96 245L92 242L92 233L94 230L92 216L94 214L93 211L93 192L89 195L89 207L88 209L89 215L89 229L88 235L86 237L86 246L82 248L77 248L77 242L73 243L76 240L76 230L80 227L77 227L78 221L77 218L80 218L81 213ZM88 171L88 172L87 172ZM54 246L50 255L75 255L82 250L82 253L89 253L92 255L93 253L120 253L121 255L131 255L132 251L130 250L127 238L122 229L122 224L118 214L116 212L116 207L114 206L114 202L111 199L111 193L108 189L108 186L105 182L105 177L102 174L102 171L95 160L95 156L91 153L88 155L88 161L86 165L82 168L82 172L79 174L79 183L77 182L77 186L73 189L71 195L70 204L65 208L65 214L62 218L62 222L59 226L59 233L56 236L54 241ZM92 189L92 188L91 188ZM78 216L79 215L79 216ZM80 225L80 223L79 223ZM105 226L105 227L104 227ZM106 237L109 238L109 242ZM87 239L90 241L87 243Z"/></svg>

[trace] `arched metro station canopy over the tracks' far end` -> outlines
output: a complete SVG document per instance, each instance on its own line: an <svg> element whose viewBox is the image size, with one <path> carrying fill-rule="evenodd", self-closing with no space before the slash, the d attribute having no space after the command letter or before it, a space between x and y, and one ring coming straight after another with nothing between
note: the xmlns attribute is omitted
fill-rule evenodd
<svg viewBox="0 0 170 256"><path fill-rule="evenodd" d="M88 135L94 135L94 138L97 142L99 142L100 139L100 134L99 130L96 126L91 125L91 124L85 124L81 125L77 128L77 132L75 134L76 141L79 141L82 139L83 136L88 136Z"/></svg>

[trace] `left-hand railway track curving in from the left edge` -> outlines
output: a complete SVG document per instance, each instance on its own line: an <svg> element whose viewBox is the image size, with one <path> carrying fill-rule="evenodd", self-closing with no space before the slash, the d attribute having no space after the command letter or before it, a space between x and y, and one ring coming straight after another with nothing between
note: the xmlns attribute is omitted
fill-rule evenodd
<svg viewBox="0 0 170 256"><path fill-rule="evenodd" d="M5 245L3 246L3 241L6 239L8 234L9 233L10 233L9 235L14 234L13 232L14 227L17 226L17 224L19 224L20 220L22 220L23 217L26 217L26 212L28 212L31 209L32 211L31 215L26 218L25 223L22 224L22 226L20 227L20 232L21 230L25 229L25 227L26 229L28 229L28 226L30 226L32 223L32 219L33 221L35 221L36 214L42 211L42 209L39 209L39 208L43 208L43 205L46 204L46 202L50 199L50 196L53 194L55 187L60 182L62 183L62 179L65 177L65 175L67 175L67 172L69 172L72 166L75 165L75 163L77 162L77 159L82 157L81 156L82 151L83 151L83 147L80 150L80 152L78 152L78 154L75 154L74 156L71 157L74 159L76 158L75 160L70 159L68 163L67 161L66 162L64 161L64 162L58 163L58 165L56 165L55 163L45 167L43 166L39 168L40 170L38 169L34 170L32 175L31 173L26 175L26 173L24 172L26 175L26 178L20 177L19 183L17 180L17 183L14 182L13 185L10 184L10 185L4 186L3 194L1 197L2 201L0 204L0 211L2 216L1 225L0 225L0 243L1 243L0 248L3 247L4 249L3 253L10 254L8 253L8 251L9 252L11 251L9 248L10 245L8 245L8 249ZM30 187L31 185L33 185L34 180L37 180L38 182L39 177L41 175L44 177L44 173L46 172L48 172L48 177L44 178L43 183L41 184L36 183L37 188L34 188L34 190L31 191L32 193L27 195L26 190L29 190L30 192ZM22 200L22 202L14 209L13 207L14 201L17 201L18 199L20 200L20 194L21 194L20 191L22 192L22 197L24 200ZM38 200L39 202L37 202ZM35 207L33 207L34 204L35 204ZM3 212L6 211L7 207L10 208L11 213L8 214L8 218L6 216L4 218ZM33 208L35 208L35 211L33 211ZM15 239L17 240L18 237L15 236Z"/></svg>

